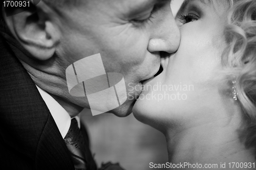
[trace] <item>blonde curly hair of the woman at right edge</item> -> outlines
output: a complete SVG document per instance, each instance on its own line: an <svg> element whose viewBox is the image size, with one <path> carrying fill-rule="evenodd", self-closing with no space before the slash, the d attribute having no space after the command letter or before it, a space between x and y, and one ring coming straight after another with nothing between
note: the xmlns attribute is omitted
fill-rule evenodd
<svg viewBox="0 0 256 170"><path fill-rule="evenodd" d="M227 48L222 60L230 81L236 80L245 128L240 138L256 154L256 1L228 0Z"/></svg>

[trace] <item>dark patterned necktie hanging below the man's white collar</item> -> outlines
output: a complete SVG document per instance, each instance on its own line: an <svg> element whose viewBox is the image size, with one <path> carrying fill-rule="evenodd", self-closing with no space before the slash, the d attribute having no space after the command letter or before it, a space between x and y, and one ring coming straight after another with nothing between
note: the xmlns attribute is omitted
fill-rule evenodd
<svg viewBox="0 0 256 170"><path fill-rule="evenodd" d="M88 169L86 159L86 145L78 128L77 120L73 118L67 135L64 138L71 153L75 169Z"/></svg>

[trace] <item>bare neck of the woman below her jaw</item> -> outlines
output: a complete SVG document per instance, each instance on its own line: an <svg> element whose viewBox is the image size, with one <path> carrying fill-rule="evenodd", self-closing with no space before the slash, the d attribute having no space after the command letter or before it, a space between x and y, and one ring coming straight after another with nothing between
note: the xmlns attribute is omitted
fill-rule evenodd
<svg viewBox="0 0 256 170"><path fill-rule="evenodd" d="M169 162L198 163L203 166L217 164L218 168L215 169L226 169L229 162L253 163L253 154L239 139L240 114L197 114L179 128L169 129L166 134ZM225 163L226 168L221 168L221 163Z"/></svg>

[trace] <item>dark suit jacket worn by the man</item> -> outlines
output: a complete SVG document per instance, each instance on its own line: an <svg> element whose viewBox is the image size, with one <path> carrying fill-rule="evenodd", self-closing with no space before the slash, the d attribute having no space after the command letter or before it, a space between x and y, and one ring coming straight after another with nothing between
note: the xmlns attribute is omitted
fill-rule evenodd
<svg viewBox="0 0 256 170"><path fill-rule="evenodd" d="M50 111L1 35L0 169L74 169Z"/></svg>

